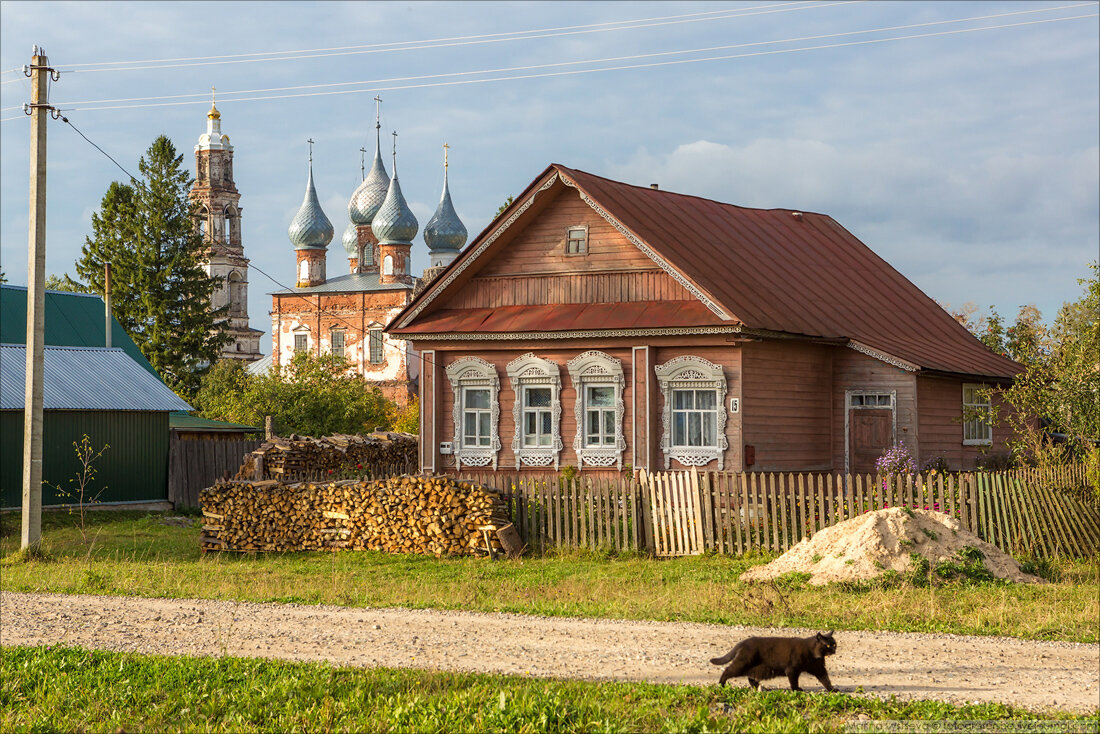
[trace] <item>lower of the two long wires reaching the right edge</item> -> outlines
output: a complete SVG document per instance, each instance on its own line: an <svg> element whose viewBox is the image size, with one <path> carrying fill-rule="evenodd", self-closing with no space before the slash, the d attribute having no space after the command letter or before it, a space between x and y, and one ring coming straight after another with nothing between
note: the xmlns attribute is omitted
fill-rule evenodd
<svg viewBox="0 0 1100 734"><path fill-rule="evenodd" d="M408 84L408 85L397 85L397 86L387 86L387 87L371 86L371 87L364 87L364 88L360 88L360 89L341 89L341 90L332 90L332 91L311 91L311 92L301 92L301 94L293 94L293 95L267 95L267 96L263 96L263 97L240 97L240 98L235 98L235 99L227 100L227 101L251 102L251 101L263 101L263 100L272 100L272 99L292 99L292 98L300 98L300 97L324 97L324 96L331 96L331 95L354 95L354 94L362 94L362 92L377 94L380 91L395 91L395 90L402 90L402 89L426 89L426 88L432 88L432 87L452 87L452 86L471 85L471 84L484 84L484 83L488 83L488 81L515 81L515 80L521 80L521 79L540 79L540 78L559 77L559 76L576 76L576 75L581 75L581 74L594 74L594 73L597 73L597 72L617 72L617 70L625 70L625 69L654 68L654 67L659 67L659 66L672 66L672 65L681 65L681 64L697 64L697 63L701 63L701 62L730 61L730 59L735 59L735 58L752 58L752 57L757 57L757 56L773 56L773 55L778 55L778 54L792 54L792 53L801 53L801 52L806 52L806 51L822 51L822 50L826 50L826 48L844 48L844 47L851 47L851 46L864 46L864 45L871 45L871 44L882 44L882 43L890 43L890 42L894 42L894 41L910 41L910 40L914 40L914 39L930 39L930 37L944 36L944 35L959 35L959 34L963 34L963 33L975 33L975 32L978 32L978 31L996 31L996 30L1010 29L1010 28L1021 28L1021 26L1024 26L1024 25L1038 25L1038 24L1046 24L1046 23L1060 23L1060 22L1064 22L1064 21L1084 20L1084 19L1087 19L1087 18L1097 18L1098 15L1100 15L1100 13L1089 13L1089 14L1085 14L1085 15L1070 15L1070 17L1066 17L1066 18L1050 18L1050 19L1042 19L1042 20L1034 20L1034 21L1024 21L1024 22L1020 22L1020 23L1004 23L1004 24L1000 24L1000 25L985 25L985 26L971 28L971 29L956 29L956 30L952 30L952 31L938 31L938 32L935 32L935 33L914 33L914 34L910 34L910 35L894 36L894 37L890 37L890 39L870 39L870 40L867 40L867 41L850 41L850 42L847 42L847 43L820 44L820 45L813 45L813 46L800 46L800 47L796 47L796 48L777 48L777 50L772 50L772 51L760 51L760 52L751 52L751 53L744 53L744 54L725 54L725 55L721 55L721 56L704 56L704 57L701 57L701 58L684 58L684 59L673 59L673 61L664 61L664 62L651 62L651 63L646 63L646 64L623 64L623 65L618 65L618 66L606 66L606 67L592 68L592 69L568 69L568 70L562 70L562 72L547 72L547 73L542 73L542 74L522 74L522 75L514 75L514 76L487 77L487 78L482 78L482 79L457 79L457 80L450 80L450 81L436 81L436 83L427 83L427 84ZM439 76L442 76L442 75L439 75ZM432 78L437 78L437 77L432 77ZM364 84L364 83L358 83L358 84ZM370 84L370 83L365 83L365 84ZM156 108L156 107L179 107L179 106L183 106L183 105L205 105L205 103L206 103L205 101L191 100L191 101L178 101L178 102L155 102L155 103L148 103L148 105L114 105L114 106L100 106L100 107L76 107L76 108L72 108L72 109L80 110L80 111L92 111L92 110L134 110L134 109L150 109L150 108ZM8 108L8 109L15 109L15 108Z"/></svg>

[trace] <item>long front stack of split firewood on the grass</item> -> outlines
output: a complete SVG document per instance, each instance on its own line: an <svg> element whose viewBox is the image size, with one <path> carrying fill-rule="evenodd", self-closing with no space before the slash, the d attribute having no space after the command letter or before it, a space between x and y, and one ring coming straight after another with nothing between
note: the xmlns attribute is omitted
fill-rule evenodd
<svg viewBox="0 0 1100 734"><path fill-rule="evenodd" d="M497 490L449 476L233 481L202 490L199 500L204 550L495 555L503 550L496 530L512 522Z"/></svg>

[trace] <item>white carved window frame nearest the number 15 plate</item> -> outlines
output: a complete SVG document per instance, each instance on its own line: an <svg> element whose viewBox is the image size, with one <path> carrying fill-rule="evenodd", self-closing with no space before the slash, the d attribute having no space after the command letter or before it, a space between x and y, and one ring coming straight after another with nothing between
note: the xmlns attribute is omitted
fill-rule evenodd
<svg viewBox="0 0 1100 734"><path fill-rule="evenodd" d="M664 468L669 469L671 460L675 459L686 467L703 467L717 460L718 471L724 469L726 449L726 374L722 366L708 362L702 357L676 357L664 364L653 368L657 382L661 388L664 406L661 409L663 436L661 451L664 453ZM672 391L674 390L713 390L715 395L716 446L672 446Z"/></svg>

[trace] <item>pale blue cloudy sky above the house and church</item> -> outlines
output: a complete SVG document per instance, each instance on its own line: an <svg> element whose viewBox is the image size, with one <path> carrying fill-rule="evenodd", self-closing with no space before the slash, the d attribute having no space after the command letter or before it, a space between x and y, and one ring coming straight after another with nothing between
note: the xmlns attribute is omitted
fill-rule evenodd
<svg viewBox="0 0 1100 734"><path fill-rule="evenodd" d="M163 133L194 175L216 86L265 353L268 294L294 281L306 141L340 275L375 96L421 232L446 142L471 240L561 163L827 213L942 304L1009 320L1033 304L1049 321L1100 258L1098 4L4 1L0 269L26 284L21 67L38 44L61 70L51 103L103 151L50 122L46 272L75 275L92 213L128 179L105 153L136 174ZM418 234L413 271L427 265Z"/></svg>

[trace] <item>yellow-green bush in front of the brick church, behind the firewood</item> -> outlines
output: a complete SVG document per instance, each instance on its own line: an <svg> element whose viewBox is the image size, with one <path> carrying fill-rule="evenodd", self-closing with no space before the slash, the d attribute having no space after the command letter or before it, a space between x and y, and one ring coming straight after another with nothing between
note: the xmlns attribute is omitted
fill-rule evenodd
<svg viewBox="0 0 1100 734"><path fill-rule="evenodd" d="M262 426L270 415L280 434L306 436L386 428L396 413L346 360L308 352L298 352L290 364L264 375L250 374L237 360L223 360L204 377L195 404L206 418Z"/></svg>

